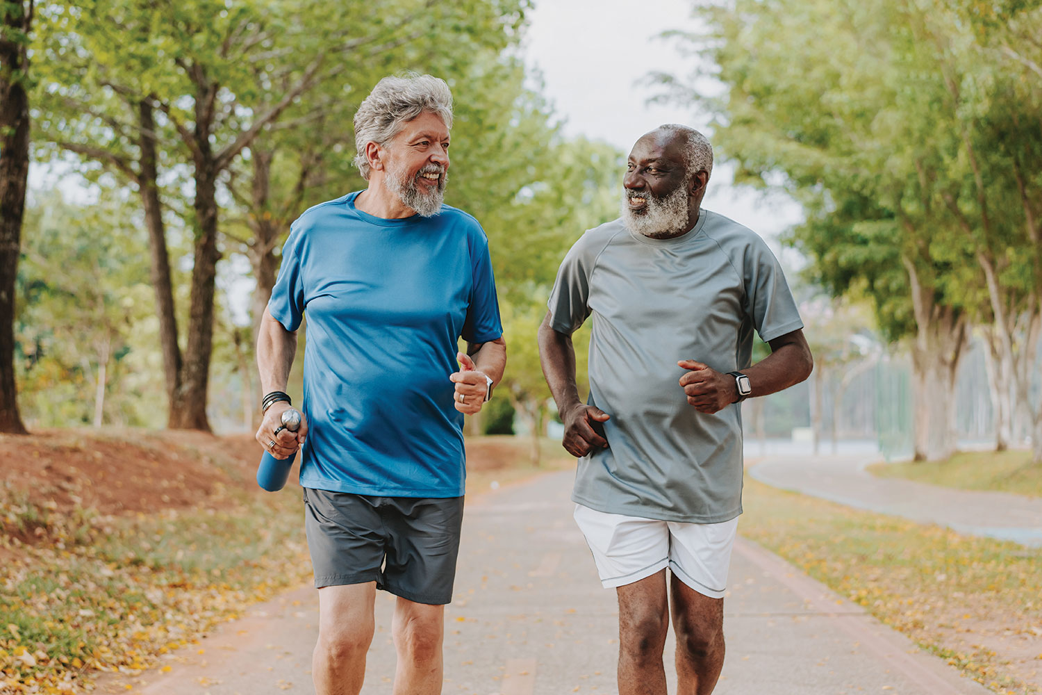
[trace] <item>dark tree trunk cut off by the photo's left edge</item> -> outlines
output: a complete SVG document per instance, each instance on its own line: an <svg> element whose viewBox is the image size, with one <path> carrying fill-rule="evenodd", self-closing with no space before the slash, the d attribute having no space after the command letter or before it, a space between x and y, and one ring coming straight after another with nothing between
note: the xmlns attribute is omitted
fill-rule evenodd
<svg viewBox="0 0 1042 695"><path fill-rule="evenodd" d="M0 8L0 432L25 435L15 386L15 279L29 178L29 96L23 81L29 58L24 39L32 2Z"/></svg>

